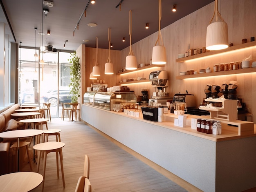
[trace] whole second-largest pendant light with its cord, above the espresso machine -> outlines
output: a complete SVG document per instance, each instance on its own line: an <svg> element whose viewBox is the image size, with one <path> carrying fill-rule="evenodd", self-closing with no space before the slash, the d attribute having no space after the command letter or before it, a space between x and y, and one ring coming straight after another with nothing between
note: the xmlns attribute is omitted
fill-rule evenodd
<svg viewBox="0 0 256 192"><path fill-rule="evenodd" d="M166 64L166 49L164 47L163 38L161 34L161 18L162 18L162 0L158 0L158 38L153 47L152 64ZM158 42L158 45L157 45ZM162 43L162 45L161 45Z"/></svg>

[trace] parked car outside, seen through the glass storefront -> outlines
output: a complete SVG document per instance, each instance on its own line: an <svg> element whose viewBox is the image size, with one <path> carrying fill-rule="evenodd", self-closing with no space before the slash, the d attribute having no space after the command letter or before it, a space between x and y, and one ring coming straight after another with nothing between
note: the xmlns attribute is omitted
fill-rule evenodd
<svg viewBox="0 0 256 192"><path fill-rule="evenodd" d="M44 102L51 103L51 106L57 106L58 104L58 97L59 97L59 104L61 102L63 103L70 103L71 102L71 96L70 90L49 90L45 95L43 95L41 98Z"/></svg>

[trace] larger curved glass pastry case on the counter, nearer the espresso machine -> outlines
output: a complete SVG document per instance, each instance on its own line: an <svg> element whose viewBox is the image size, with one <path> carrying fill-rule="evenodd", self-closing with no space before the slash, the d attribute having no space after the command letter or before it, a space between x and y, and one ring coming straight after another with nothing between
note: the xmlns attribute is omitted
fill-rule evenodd
<svg viewBox="0 0 256 192"><path fill-rule="evenodd" d="M110 111L122 112L124 106L133 108L136 102L133 92L97 92L94 95L94 106Z"/></svg>

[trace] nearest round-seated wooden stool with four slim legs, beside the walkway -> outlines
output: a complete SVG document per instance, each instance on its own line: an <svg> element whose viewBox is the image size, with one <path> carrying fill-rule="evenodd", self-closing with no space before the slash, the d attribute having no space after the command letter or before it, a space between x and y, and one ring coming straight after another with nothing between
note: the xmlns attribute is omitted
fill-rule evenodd
<svg viewBox="0 0 256 192"><path fill-rule="evenodd" d="M50 152L56 152L56 164L57 164L57 177L59 177L59 170L58 170L58 153L61 161L61 175L62 175L62 182L63 187L65 188L65 179L64 179L64 171L63 171L63 162L62 162L62 148L65 146L65 143L62 142L45 142L45 143L39 143L34 146L35 150L39 151L38 155L38 164L37 164L37 172L39 172L39 166L40 166L40 158L41 158L41 152L43 152L44 156L44 165L43 165L43 183L42 183L42 192L44 190L45 185L45 167L46 167L46 159L47 154Z"/></svg>

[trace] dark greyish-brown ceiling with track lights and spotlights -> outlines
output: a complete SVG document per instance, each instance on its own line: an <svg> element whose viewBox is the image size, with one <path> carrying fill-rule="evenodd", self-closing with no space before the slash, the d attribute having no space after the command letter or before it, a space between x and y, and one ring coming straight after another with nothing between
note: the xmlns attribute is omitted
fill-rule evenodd
<svg viewBox="0 0 256 192"><path fill-rule="evenodd" d="M158 30L158 0L49 0L53 7L43 6L43 0L1 0L0 3L7 13L13 34L6 25L11 42L22 42L22 46L35 47L35 30L43 30L50 35L43 35L44 46L50 44L60 50L76 50L81 44L95 47L98 37L99 48L108 49L108 27L111 28L112 49L122 50L129 42L129 10L132 10L132 44L155 33ZM162 0L161 29L183 18L214 0ZM86 5L86 17L82 15ZM177 4L177 11L171 11ZM48 9L47 17L43 17L43 9ZM81 20L79 22L79 18ZM4 12L0 10L0 22L7 22ZM79 30L76 25L79 22ZM96 23L90 27L88 23ZM43 23L43 24L42 24ZM145 29L149 23L149 29ZM42 29L43 26L43 29ZM206 29L205 29L206 30ZM73 36L74 31L74 36ZM122 42L123 37L126 42ZM65 48L63 45L68 40ZM89 40L89 42L83 42ZM37 47L42 44L42 36L36 38Z"/></svg>

